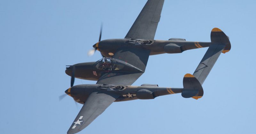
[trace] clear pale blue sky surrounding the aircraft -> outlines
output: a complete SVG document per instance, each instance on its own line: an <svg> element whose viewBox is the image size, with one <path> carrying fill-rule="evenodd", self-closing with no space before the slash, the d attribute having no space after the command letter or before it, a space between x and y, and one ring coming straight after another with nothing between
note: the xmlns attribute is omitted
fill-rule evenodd
<svg viewBox="0 0 256 134"><path fill-rule="evenodd" d="M98 41L124 38L146 0L1 0L0 128L3 134L63 134L81 104L58 97L70 86L65 65L97 61L87 57ZM256 8L252 0L165 0L155 39L210 42L212 28L230 37L203 84L204 97L180 94L153 100L116 102L80 133L256 133ZM133 84L182 87L207 48L150 56ZM96 83L76 79L76 84Z"/></svg>

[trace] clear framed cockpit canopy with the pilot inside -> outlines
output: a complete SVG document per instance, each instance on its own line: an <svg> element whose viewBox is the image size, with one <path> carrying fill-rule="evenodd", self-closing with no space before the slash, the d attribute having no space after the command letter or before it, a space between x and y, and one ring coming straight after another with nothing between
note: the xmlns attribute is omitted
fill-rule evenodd
<svg viewBox="0 0 256 134"><path fill-rule="evenodd" d="M112 60L111 58L102 58L96 62L95 67L99 70L120 70L124 68L124 65L121 63L118 63L116 60Z"/></svg>

